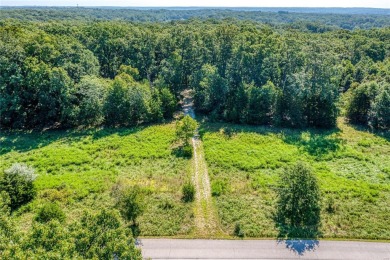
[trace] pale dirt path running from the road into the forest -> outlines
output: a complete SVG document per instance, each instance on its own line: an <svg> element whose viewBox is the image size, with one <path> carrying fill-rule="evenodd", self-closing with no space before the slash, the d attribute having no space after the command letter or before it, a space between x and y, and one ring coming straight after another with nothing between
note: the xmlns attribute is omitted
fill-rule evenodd
<svg viewBox="0 0 390 260"><path fill-rule="evenodd" d="M192 93L189 90L182 92L183 112L195 119L193 109ZM194 205L195 235L197 237L211 238L220 232L217 212L211 197L210 178L207 171L207 164L204 158L202 141L196 131L192 138L193 153L193 175L192 181L195 185L196 196Z"/></svg>

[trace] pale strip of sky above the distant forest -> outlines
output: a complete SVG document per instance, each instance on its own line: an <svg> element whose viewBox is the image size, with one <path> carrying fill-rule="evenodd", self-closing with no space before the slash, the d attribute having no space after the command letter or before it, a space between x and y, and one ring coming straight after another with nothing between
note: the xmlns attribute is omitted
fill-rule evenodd
<svg viewBox="0 0 390 260"><path fill-rule="evenodd" d="M80 6L80 7L276 7L276 8L390 8L390 1L387 0L274 0L269 1L255 1L255 0L0 0L0 6Z"/></svg>

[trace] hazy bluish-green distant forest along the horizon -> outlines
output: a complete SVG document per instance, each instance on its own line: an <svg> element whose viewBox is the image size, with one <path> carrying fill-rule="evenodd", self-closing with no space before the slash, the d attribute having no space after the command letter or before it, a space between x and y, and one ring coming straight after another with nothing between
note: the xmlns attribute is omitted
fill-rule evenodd
<svg viewBox="0 0 390 260"><path fill-rule="evenodd" d="M375 8L76 8L76 7L5 7L0 20L124 20L133 22L170 22L188 19L237 19L267 23L287 28L319 27L331 29L370 29L390 26L389 9ZM307 28L312 30L313 28Z"/></svg>

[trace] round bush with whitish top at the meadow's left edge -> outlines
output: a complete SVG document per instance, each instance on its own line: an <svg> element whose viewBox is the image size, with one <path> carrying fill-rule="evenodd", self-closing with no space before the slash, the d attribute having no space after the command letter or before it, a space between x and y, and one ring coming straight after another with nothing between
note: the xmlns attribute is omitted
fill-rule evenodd
<svg viewBox="0 0 390 260"><path fill-rule="evenodd" d="M0 179L0 190L8 193L10 208L15 210L30 202L36 195L34 169L25 164L15 163L4 171Z"/></svg>

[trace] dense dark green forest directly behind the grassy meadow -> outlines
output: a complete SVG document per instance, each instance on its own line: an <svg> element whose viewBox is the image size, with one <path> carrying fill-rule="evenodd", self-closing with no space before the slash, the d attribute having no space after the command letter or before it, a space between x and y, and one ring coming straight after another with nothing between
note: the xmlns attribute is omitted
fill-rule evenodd
<svg viewBox="0 0 390 260"><path fill-rule="evenodd" d="M390 126L390 27L312 33L250 21L0 22L2 128L169 119Z"/></svg>

